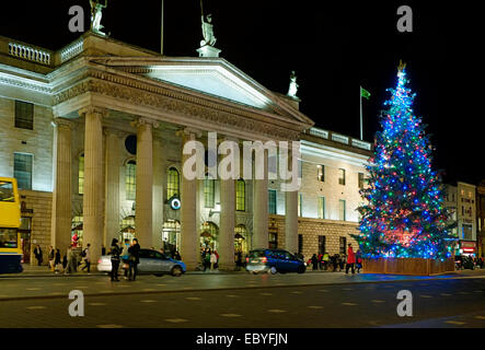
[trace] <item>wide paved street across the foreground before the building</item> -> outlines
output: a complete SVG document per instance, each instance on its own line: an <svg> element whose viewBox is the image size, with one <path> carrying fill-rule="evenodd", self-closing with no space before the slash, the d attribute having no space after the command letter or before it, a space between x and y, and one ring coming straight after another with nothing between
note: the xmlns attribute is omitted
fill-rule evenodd
<svg viewBox="0 0 485 350"><path fill-rule="evenodd" d="M0 327L485 327L485 276L409 278L343 273L0 279ZM68 314L71 290L84 317ZM396 294L413 293L413 317Z"/></svg>

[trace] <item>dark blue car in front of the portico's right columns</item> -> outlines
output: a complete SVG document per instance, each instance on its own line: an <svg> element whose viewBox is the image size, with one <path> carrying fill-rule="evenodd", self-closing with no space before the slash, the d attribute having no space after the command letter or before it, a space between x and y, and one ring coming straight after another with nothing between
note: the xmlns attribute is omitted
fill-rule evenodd
<svg viewBox="0 0 485 350"><path fill-rule="evenodd" d="M251 250L246 258L246 270L253 273L303 273L307 270L307 264L282 249L255 249Z"/></svg>

